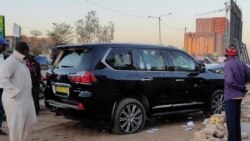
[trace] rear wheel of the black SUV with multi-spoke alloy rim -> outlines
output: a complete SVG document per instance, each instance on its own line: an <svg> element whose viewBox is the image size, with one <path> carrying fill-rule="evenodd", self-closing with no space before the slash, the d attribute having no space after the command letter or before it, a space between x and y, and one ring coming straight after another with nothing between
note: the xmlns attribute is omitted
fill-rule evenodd
<svg viewBox="0 0 250 141"><path fill-rule="evenodd" d="M133 134L141 131L145 125L145 108L136 99L121 100L113 118L113 132L116 134Z"/></svg>

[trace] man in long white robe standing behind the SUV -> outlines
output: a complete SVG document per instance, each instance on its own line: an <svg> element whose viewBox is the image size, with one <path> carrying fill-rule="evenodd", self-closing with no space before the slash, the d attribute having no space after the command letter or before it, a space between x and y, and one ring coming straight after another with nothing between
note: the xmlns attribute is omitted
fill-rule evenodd
<svg viewBox="0 0 250 141"><path fill-rule="evenodd" d="M31 77L25 63L28 54L28 45L19 42L13 55L0 68L0 87L4 89L2 102L9 127L9 141L27 141L36 122Z"/></svg>

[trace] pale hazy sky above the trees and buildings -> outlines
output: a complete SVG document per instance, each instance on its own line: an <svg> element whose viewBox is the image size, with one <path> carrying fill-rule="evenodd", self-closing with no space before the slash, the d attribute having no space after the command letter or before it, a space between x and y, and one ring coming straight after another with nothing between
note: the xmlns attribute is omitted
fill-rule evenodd
<svg viewBox="0 0 250 141"><path fill-rule="evenodd" d="M195 16L225 8L226 0L1 0L0 15L5 16L6 35L13 35L13 23L22 34L39 30L45 37L52 23L75 22L94 10L102 25L112 21L115 42L159 43L161 16L162 43L179 48L184 44L184 29L195 32L196 18L225 16L225 11ZM250 47L250 1L237 0L243 13L243 42Z"/></svg>

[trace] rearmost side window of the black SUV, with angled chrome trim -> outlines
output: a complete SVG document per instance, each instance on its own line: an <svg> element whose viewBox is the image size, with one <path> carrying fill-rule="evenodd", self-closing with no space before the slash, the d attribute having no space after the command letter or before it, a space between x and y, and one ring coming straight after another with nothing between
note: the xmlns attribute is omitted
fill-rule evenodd
<svg viewBox="0 0 250 141"><path fill-rule="evenodd" d="M113 48L109 52L105 61L113 69L117 70L135 69L131 49Z"/></svg>

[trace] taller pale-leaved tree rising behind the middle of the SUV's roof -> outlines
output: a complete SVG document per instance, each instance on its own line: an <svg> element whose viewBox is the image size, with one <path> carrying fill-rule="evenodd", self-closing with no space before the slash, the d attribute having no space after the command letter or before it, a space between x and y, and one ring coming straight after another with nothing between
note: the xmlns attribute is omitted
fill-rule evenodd
<svg viewBox="0 0 250 141"><path fill-rule="evenodd" d="M114 24L101 26L95 11L90 11L85 19L76 22L76 36L80 43L110 42L114 39Z"/></svg>

